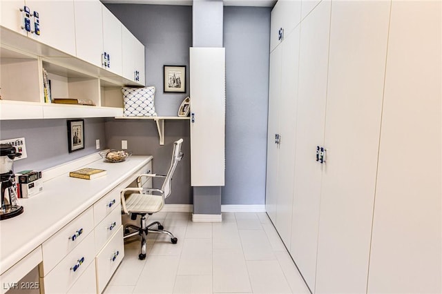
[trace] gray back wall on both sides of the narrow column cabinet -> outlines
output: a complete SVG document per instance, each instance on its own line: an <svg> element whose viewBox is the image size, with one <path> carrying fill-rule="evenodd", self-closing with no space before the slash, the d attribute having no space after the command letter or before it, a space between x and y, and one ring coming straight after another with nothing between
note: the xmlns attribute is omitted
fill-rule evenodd
<svg viewBox="0 0 442 294"><path fill-rule="evenodd" d="M176 115L184 95L162 93L162 66L189 66L191 6L106 4L146 46L146 86L156 86L158 115ZM226 48L226 186L222 204L265 204L270 8L224 7ZM189 67L187 68L189 76ZM187 92L189 93L189 79ZM128 140L134 154L154 156L153 170L170 163L171 143L184 139L182 164L174 177L171 204L192 204L189 121L166 121L166 144L159 146L153 121L106 121L111 148Z"/></svg>

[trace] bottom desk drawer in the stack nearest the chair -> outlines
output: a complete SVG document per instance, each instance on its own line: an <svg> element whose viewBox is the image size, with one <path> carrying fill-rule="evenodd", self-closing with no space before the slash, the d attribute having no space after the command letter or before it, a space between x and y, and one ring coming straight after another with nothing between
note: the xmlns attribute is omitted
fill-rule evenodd
<svg viewBox="0 0 442 294"><path fill-rule="evenodd" d="M97 288L102 293L108 284L117 266L124 257L123 226L113 235L111 240L104 246L95 259L97 266Z"/></svg>

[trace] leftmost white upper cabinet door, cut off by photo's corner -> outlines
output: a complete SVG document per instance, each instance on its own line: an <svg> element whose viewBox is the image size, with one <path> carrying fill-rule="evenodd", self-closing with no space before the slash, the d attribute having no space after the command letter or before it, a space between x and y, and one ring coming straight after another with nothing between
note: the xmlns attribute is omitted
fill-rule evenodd
<svg viewBox="0 0 442 294"><path fill-rule="evenodd" d="M0 25L26 35L24 14L20 11L24 6L24 0L0 1Z"/></svg>

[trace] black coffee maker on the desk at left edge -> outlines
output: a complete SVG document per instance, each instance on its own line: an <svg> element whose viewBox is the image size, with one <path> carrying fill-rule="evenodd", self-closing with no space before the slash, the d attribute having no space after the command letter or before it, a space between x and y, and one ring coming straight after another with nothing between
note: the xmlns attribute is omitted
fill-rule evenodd
<svg viewBox="0 0 442 294"><path fill-rule="evenodd" d="M0 220L9 219L23 213L23 206L17 204L17 184L12 163L21 156L11 144L0 144Z"/></svg>

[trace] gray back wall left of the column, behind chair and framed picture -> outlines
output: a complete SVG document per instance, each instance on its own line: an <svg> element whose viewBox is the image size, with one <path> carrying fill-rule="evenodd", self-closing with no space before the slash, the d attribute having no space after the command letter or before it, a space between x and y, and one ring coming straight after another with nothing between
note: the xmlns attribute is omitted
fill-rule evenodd
<svg viewBox="0 0 442 294"><path fill-rule="evenodd" d="M163 66L185 65L189 77L189 47L192 46L191 6L157 6L140 4L106 4L124 26L146 48L146 86L155 86L155 111L159 116L177 116L182 100L189 95L163 92ZM184 139L184 157L175 170L173 191L166 204L192 204L190 186L189 121L164 123L164 146L160 146L155 121L108 119L106 138L111 148L121 148L121 140L128 141L128 149L135 155L153 155L153 172L167 173L171 163L172 144ZM160 185L154 181L154 186Z"/></svg>

